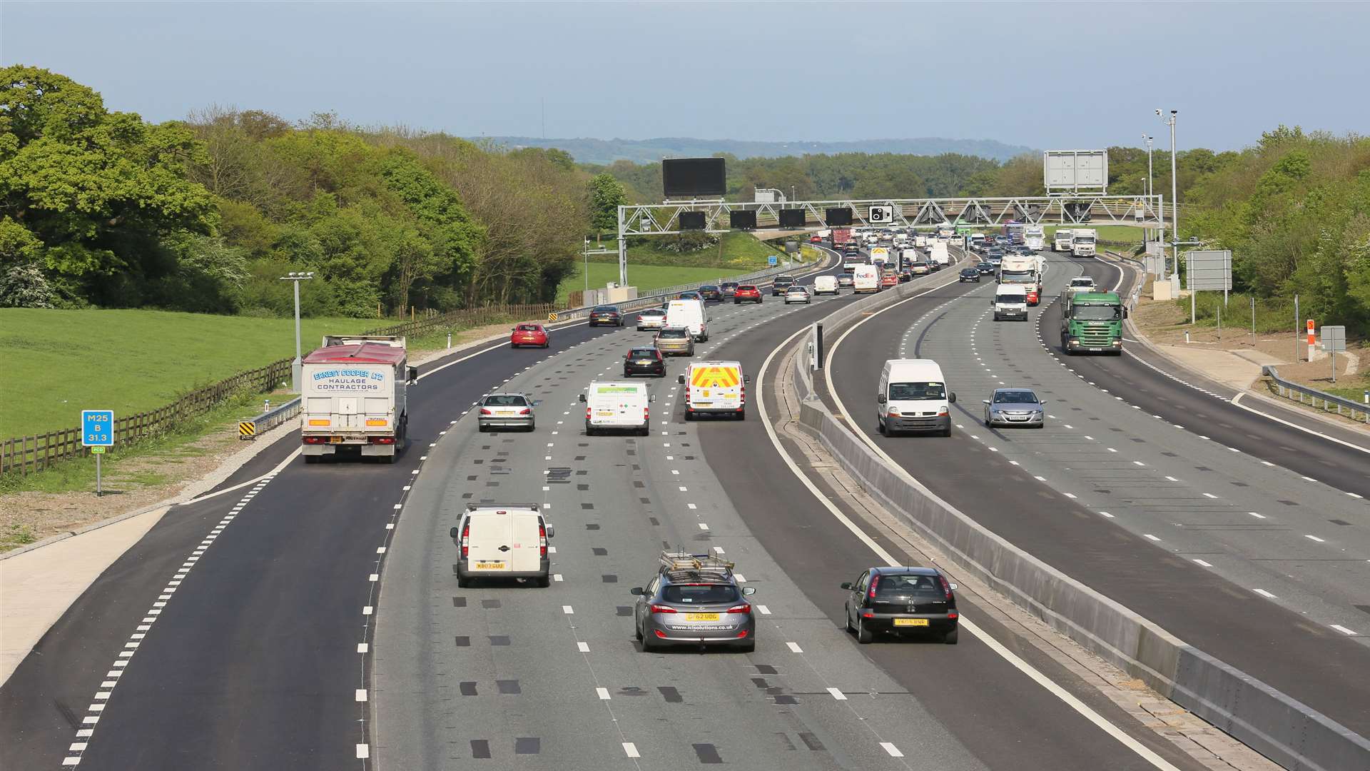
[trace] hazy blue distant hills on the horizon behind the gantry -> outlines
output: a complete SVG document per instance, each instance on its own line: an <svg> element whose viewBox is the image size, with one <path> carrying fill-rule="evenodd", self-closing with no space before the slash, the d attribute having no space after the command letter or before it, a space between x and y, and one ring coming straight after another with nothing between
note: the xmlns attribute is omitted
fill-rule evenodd
<svg viewBox="0 0 1370 771"><path fill-rule="evenodd" d="M477 137L471 137L477 139ZM615 161L652 163L662 158L706 156L727 152L737 158L778 158L782 155L837 154L837 152L897 152L908 155L941 155L958 152L995 161L1008 161L1030 147L1004 144L988 139L870 139L860 141L744 141L733 139L537 139L537 137L478 137L508 147L555 147L570 152L578 163L607 165Z"/></svg>

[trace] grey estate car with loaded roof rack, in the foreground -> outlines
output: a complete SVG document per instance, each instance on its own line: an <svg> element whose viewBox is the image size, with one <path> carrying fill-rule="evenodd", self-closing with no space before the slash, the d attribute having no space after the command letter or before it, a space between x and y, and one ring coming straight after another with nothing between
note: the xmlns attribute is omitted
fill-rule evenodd
<svg viewBox="0 0 1370 771"><path fill-rule="evenodd" d="M647 586L636 586L633 632L644 652L678 645L756 650L756 617L745 598L755 589L738 586L732 562L710 554L663 554Z"/></svg>

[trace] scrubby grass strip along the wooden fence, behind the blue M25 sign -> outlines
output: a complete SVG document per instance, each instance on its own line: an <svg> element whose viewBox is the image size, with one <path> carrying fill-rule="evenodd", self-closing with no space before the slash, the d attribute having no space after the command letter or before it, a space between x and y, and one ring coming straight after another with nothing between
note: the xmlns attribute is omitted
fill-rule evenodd
<svg viewBox="0 0 1370 771"><path fill-rule="evenodd" d="M227 431L232 421L251 417L262 410L260 394L240 394L214 410L182 423L175 429L160 436L149 436L133 444L111 449L101 461L101 475L105 487L111 490L127 490L130 487L153 487L166 483L170 477L166 473L141 468L125 471L133 461L145 461L151 457L175 458L189 455L203 455L207 450L189 447L188 444L201 439L211 431ZM118 482L111 482L118 480ZM0 476L0 495L11 493L73 493L95 491L95 457L73 458L52 464L47 469L36 473L18 475L7 473ZM0 550L3 550L11 532L0 532ZM19 546L23 542L11 541L10 546Z"/></svg>

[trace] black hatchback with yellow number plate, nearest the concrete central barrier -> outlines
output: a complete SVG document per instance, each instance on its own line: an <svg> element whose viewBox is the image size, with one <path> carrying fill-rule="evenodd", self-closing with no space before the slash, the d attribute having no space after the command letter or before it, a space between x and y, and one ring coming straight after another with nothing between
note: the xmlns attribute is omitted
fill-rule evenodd
<svg viewBox="0 0 1370 771"><path fill-rule="evenodd" d="M847 631L867 643L877 634L922 632L956 645L956 584L937 568L875 567L847 590Z"/></svg>

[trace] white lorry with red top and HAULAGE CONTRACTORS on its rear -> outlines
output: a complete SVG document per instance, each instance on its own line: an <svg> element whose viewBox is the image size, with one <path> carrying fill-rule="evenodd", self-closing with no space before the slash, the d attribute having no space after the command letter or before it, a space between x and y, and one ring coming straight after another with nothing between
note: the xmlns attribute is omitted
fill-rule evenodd
<svg viewBox="0 0 1370 771"><path fill-rule="evenodd" d="M325 455L377 457L393 464L408 434L408 366L404 337L325 335L301 365L300 438L304 462Z"/></svg>

